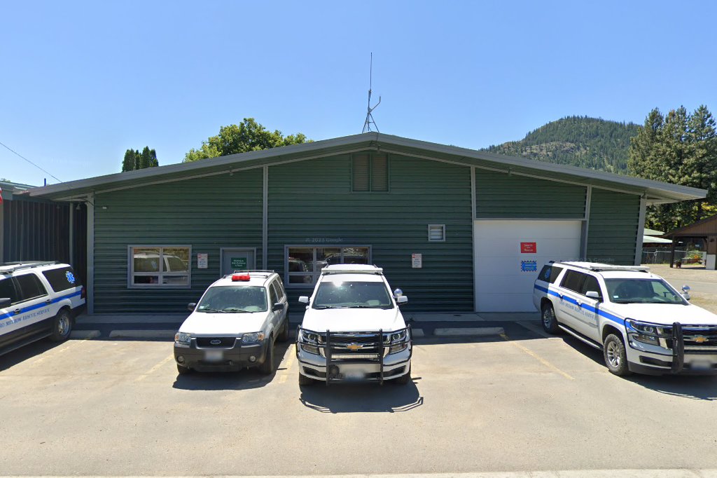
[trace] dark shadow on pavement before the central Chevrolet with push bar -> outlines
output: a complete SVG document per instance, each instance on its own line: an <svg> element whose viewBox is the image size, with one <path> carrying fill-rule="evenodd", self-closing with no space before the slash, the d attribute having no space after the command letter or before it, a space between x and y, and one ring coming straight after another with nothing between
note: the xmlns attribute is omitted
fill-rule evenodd
<svg viewBox="0 0 717 478"><path fill-rule="evenodd" d="M407 385L394 385L386 381L326 386L323 382L301 388L300 402L306 408L321 413L379 412L399 413L412 411L423 405L414 377Z"/></svg>

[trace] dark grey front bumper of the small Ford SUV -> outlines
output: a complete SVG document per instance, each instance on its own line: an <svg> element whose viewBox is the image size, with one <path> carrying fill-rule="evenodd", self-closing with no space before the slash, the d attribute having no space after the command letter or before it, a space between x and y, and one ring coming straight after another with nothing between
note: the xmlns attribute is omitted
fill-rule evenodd
<svg viewBox="0 0 717 478"><path fill-rule="evenodd" d="M174 360L182 367L198 372L236 372L257 367L265 360L267 340L242 345L238 339L232 347L198 347L192 337L189 347L174 344Z"/></svg>

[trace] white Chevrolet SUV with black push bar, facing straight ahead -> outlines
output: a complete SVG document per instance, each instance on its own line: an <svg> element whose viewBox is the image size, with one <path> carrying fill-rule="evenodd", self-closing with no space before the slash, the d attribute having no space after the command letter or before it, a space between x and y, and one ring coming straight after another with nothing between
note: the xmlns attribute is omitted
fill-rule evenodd
<svg viewBox="0 0 717 478"><path fill-rule="evenodd" d="M394 296L395 294L395 296ZM316 380L411 381L411 330L381 268L337 264L321 270L298 329L299 385Z"/></svg>

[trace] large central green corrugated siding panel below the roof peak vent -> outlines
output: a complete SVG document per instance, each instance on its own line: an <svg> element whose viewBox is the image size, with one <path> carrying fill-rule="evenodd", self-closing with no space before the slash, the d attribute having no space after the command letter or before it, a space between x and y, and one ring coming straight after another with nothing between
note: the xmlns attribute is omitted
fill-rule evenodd
<svg viewBox="0 0 717 478"><path fill-rule="evenodd" d="M269 266L284 272L285 245L371 245L374 264L409 297L406 310L473 310L470 169L391 156L390 192L351 193L350 156L269 168ZM445 224L445 243L427 226ZM423 254L423 268L411 254ZM282 276L283 277L283 276ZM311 289L288 288L290 307Z"/></svg>

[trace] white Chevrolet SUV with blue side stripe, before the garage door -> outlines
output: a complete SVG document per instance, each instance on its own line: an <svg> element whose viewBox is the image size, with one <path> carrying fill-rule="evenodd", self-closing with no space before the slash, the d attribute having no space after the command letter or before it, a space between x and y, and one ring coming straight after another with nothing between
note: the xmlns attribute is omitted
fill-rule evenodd
<svg viewBox="0 0 717 478"><path fill-rule="evenodd" d="M642 266L555 262L543 267L533 304L546 332L602 350L615 375L717 373L717 315L688 302Z"/></svg>

